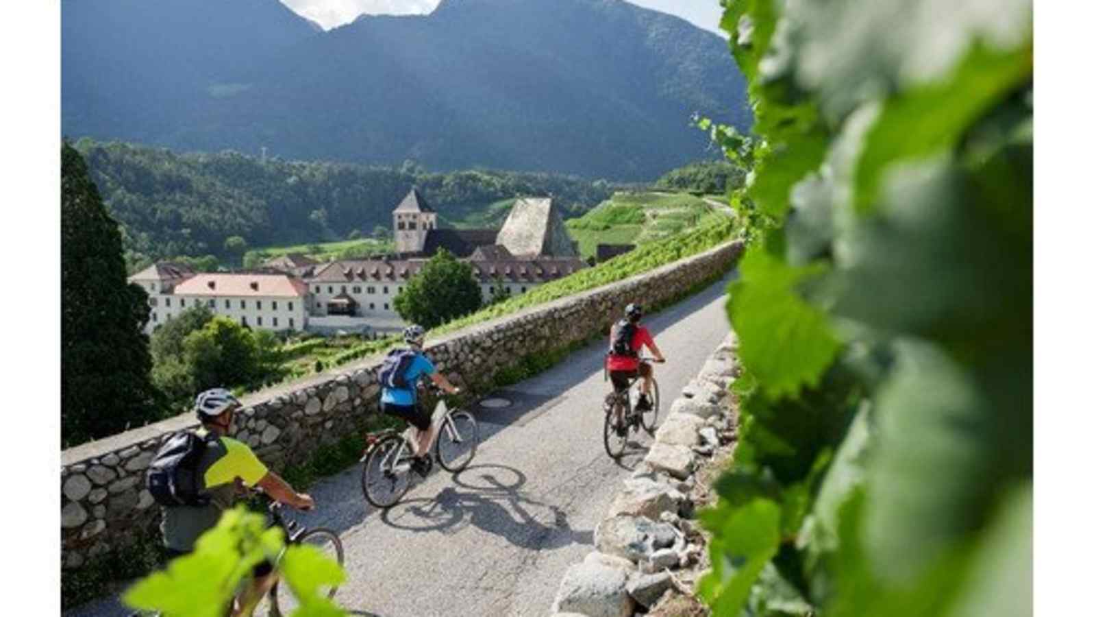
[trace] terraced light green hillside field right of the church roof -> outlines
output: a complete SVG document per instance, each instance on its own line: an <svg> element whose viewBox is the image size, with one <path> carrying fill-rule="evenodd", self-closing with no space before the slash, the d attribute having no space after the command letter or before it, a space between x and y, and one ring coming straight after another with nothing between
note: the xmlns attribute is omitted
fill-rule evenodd
<svg viewBox="0 0 1096 617"><path fill-rule="evenodd" d="M688 193L617 192L579 218L567 222L583 258L598 244L641 245L698 227L711 204Z"/></svg>

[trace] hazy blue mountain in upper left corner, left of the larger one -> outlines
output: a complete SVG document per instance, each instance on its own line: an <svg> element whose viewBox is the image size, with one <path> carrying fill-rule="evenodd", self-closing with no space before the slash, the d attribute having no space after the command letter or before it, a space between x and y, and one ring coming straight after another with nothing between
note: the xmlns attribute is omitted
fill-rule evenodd
<svg viewBox="0 0 1096 617"><path fill-rule="evenodd" d="M62 131L173 143L238 76L316 34L277 0L64 0Z"/></svg>

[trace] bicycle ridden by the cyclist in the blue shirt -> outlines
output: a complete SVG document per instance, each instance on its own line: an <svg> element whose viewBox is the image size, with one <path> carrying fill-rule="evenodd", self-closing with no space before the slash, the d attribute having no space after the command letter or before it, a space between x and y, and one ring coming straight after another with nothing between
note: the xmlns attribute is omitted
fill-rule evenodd
<svg viewBox="0 0 1096 617"><path fill-rule="evenodd" d="M441 389L431 384L431 390ZM431 445L433 457L427 456L427 464L433 458L443 469L457 473L468 467L479 447L479 426L476 418L460 407L449 410L445 399L438 397L431 415L432 426L437 430ZM411 427L403 433L386 430L368 436L368 446L362 457L362 492L365 498L379 508L396 505L411 485L411 460L414 446L411 442ZM430 472L422 473L423 476Z"/></svg>

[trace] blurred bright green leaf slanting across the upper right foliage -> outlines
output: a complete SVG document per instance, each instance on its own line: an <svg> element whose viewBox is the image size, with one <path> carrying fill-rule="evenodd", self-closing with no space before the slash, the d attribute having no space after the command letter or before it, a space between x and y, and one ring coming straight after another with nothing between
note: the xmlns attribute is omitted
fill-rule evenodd
<svg viewBox="0 0 1096 617"><path fill-rule="evenodd" d="M889 166L954 148L975 120L1030 80L1030 42L1005 53L975 45L948 79L889 99L857 165L857 210L875 206Z"/></svg>

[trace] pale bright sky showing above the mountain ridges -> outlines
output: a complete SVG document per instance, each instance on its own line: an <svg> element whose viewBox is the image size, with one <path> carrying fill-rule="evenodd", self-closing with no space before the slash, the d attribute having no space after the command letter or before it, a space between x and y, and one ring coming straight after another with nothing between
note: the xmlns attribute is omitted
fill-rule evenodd
<svg viewBox="0 0 1096 617"><path fill-rule="evenodd" d="M632 4L677 15L717 34L722 9L719 0L629 0ZM438 0L282 0L298 14L332 29L362 13L400 15L429 13Z"/></svg>

